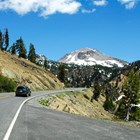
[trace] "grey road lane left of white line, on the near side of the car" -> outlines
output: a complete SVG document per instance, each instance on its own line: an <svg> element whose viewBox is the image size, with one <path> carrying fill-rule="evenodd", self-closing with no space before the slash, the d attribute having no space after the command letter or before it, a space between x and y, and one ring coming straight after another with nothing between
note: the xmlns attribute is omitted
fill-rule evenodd
<svg viewBox="0 0 140 140"><path fill-rule="evenodd" d="M0 140L4 137L16 111L25 98L16 98L14 93L0 94Z"/></svg>

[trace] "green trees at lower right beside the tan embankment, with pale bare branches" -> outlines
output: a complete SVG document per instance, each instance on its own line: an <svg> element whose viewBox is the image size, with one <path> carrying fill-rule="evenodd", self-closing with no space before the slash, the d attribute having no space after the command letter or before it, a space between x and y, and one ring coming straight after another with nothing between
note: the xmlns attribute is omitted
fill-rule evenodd
<svg viewBox="0 0 140 140"><path fill-rule="evenodd" d="M91 102L98 101L99 96L105 96L104 109L121 119L140 121L140 73L131 69L122 86L116 80L115 85L107 82L94 84Z"/></svg>

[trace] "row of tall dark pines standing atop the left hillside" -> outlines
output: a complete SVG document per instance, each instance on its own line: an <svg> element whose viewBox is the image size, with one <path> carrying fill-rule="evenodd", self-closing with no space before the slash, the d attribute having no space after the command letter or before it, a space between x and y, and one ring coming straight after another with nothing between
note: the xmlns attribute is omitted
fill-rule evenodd
<svg viewBox="0 0 140 140"><path fill-rule="evenodd" d="M10 52L12 55L18 55L19 58L25 58L33 63L36 63L36 52L34 45L30 43L28 54L22 37L17 39L15 43L10 46L9 32L7 28L4 30L4 33L0 30L0 50Z"/></svg>

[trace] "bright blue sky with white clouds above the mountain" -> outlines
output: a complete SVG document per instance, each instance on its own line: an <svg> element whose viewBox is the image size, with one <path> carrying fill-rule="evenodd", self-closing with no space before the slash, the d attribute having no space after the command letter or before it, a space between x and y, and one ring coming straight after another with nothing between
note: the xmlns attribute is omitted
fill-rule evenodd
<svg viewBox="0 0 140 140"><path fill-rule="evenodd" d="M22 36L26 48L58 60L89 47L128 62L140 59L139 0L0 0L0 29L10 45Z"/></svg>

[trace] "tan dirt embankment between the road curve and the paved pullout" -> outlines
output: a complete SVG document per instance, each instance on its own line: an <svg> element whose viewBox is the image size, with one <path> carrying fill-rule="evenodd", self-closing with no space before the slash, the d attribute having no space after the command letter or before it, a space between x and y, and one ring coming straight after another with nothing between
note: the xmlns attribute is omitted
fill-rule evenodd
<svg viewBox="0 0 140 140"><path fill-rule="evenodd" d="M88 89L83 92L69 92L60 95L44 97L39 102L52 109L83 115L91 118L113 119L113 115L104 110L105 97L90 101L93 92Z"/></svg>

